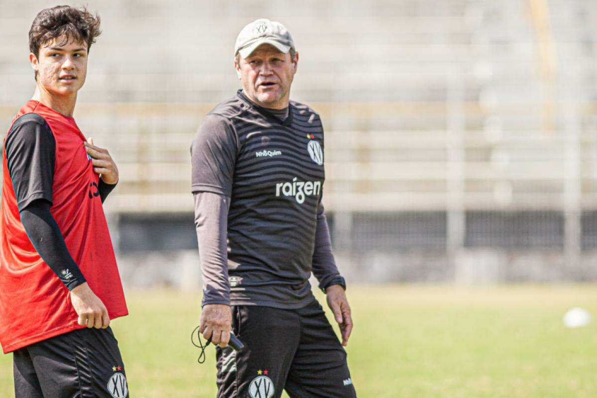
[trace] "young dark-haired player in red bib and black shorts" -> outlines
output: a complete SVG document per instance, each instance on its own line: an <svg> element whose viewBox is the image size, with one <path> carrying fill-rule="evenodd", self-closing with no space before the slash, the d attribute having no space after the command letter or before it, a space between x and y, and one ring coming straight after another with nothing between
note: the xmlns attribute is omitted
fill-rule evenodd
<svg viewBox="0 0 597 398"><path fill-rule="evenodd" d="M128 311L102 207L118 169L72 118L99 27L68 6L35 17L37 87L4 140L0 343L17 398L128 396L108 326Z"/></svg>

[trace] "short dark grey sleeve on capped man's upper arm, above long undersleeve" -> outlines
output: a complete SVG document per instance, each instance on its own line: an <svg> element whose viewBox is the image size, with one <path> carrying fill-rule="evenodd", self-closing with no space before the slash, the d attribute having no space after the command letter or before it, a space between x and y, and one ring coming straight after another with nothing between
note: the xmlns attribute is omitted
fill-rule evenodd
<svg viewBox="0 0 597 398"><path fill-rule="evenodd" d="M238 137L229 119L207 115L190 147L192 192L232 195Z"/></svg>

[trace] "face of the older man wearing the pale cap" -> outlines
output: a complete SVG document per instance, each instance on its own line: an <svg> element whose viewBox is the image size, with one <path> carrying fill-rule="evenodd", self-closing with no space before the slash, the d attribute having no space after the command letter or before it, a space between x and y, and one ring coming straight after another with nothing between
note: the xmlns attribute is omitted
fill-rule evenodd
<svg viewBox="0 0 597 398"><path fill-rule="evenodd" d="M297 71L298 53L281 53L272 45L257 47L247 58L235 61L236 73L245 95L260 106L282 109L288 106L290 85Z"/></svg>

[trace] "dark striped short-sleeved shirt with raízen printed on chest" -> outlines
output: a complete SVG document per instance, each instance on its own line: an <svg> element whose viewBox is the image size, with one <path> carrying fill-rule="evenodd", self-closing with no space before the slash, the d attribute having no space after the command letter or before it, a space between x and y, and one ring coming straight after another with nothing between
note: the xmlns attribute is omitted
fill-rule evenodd
<svg viewBox="0 0 597 398"><path fill-rule="evenodd" d="M280 116L239 91L205 117L191 147L192 190L231 198L233 305L300 308L313 300L307 281L322 209L323 143L319 115L294 101Z"/></svg>

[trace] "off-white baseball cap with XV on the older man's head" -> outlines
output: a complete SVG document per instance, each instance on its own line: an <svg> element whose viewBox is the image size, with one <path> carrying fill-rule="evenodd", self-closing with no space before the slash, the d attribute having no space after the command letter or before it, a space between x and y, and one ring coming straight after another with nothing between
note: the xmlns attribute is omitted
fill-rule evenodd
<svg viewBox="0 0 597 398"><path fill-rule="evenodd" d="M242 28L236 38L234 55L241 54L241 57L247 58L261 44L273 45L284 54L294 48L293 36L284 25L259 18Z"/></svg>

